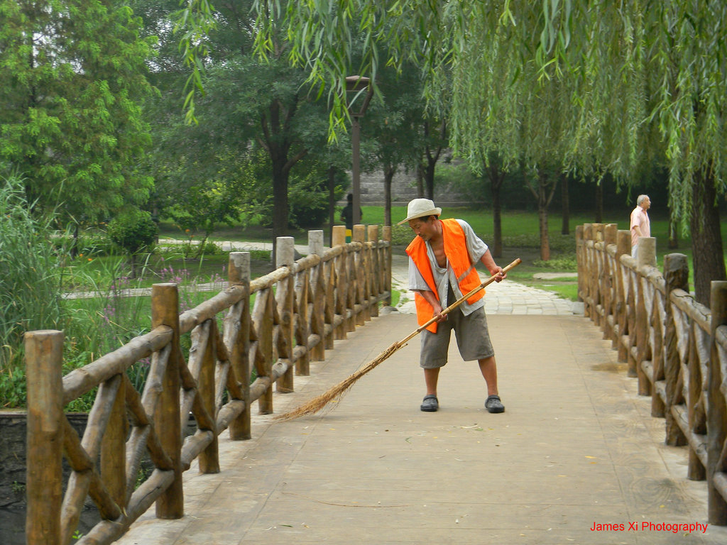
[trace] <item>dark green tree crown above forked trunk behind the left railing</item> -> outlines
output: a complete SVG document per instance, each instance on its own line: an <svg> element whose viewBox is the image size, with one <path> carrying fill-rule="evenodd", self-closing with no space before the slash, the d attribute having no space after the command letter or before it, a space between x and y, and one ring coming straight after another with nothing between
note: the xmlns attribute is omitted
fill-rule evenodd
<svg viewBox="0 0 727 545"><path fill-rule="evenodd" d="M177 184L208 185L220 179L220 169L233 172L244 161L254 162L256 183L248 185L244 193L236 193L236 202L249 203L257 212L269 210L266 215L275 237L286 234L290 225L313 225L317 217L325 217L326 197L318 190L327 178L324 169L348 163L350 148L325 145L326 104L316 100L316 94L305 84L307 68L291 67L287 62L284 27L275 31L278 55L268 60L254 55L252 41L257 30L252 4L250 0L215 4L217 13L203 1L185 4L177 21L185 42L182 55L193 70L192 80L204 84L204 96L194 102L194 115L201 123L192 131L177 126L168 132L165 118L158 129L167 142L176 142L173 148L183 150L188 166L194 167L176 177ZM215 29L204 36L202 29L208 25L215 25ZM195 36L199 42L193 42ZM204 73L194 56L199 55L198 47L209 48ZM172 92L179 93L178 79L170 78L164 84L166 88L171 84ZM180 117L181 113L175 115ZM179 144L185 141L191 145ZM209 158L220 145L225 147L223 156L229 162L210 165ZM173 157L174 150L163 161ZM217 169L214 175L213 167ZM172 164L170 170L174 169Z"/></svg>

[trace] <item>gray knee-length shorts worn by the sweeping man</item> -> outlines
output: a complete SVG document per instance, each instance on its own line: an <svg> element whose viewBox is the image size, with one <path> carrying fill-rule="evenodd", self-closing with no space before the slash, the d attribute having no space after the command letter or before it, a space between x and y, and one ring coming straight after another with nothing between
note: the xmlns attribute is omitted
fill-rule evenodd
<svg viewBox="0 0 727 545"><path fill-rule="evenodd" d="M449 312L447 319L437 324L437 332L432 333L426 329L422 331L422 352L419 356L419 366L425 369L443 367L447 363L449 352L449 337L454 329L457 337L457 347L462 360L483 360L495 355L487 331L485 310L478 308L470 315L463 315L462 310L456 308Z"/></svg>

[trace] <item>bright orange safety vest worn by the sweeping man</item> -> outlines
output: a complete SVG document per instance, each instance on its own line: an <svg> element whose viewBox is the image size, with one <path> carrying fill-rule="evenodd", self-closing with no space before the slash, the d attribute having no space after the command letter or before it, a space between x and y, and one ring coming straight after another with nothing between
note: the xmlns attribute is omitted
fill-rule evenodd
<svg viewBox="0 0 727 545"><path fill-rule="evenodd" d="M444 239L444 255L449 260L454 270L454 274L457 278L461 278L463 274L467 272L467 269L472 265L470 263L470 254L467 251L467 238L465 237L465 231L462 230L462 226L459 225L457 219L441 219L442 225L442 238ZM434 292L434 296L439 300L439 294L437 293L437 286L434 283L434 273L432 272L432 265L427 256L427 243L422 238L415 237L409 246L406 246L406 254L411 257L416 265L422 278L427 283L427 286ZM480 285L480 276L473 267L470 273L459 281L459 290L462 294L468 294L474 288ZM476 294L467 299L467 303L473 304L479 301L484 296L485 291L478 291ZM419 292L414 292L414 303L417 305L417 323L419 326L423 326L427 321L431 320L434 316L434 308L432 307L427 299L425 299ZM427 330L432 333L437 332L437 323L433 322L427 326Z"/></svg>

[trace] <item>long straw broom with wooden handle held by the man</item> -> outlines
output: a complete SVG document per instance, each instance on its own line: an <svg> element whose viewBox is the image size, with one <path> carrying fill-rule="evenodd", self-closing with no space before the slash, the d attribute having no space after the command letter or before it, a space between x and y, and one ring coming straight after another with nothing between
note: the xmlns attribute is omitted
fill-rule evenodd
<svg viewBox="0 0 727 545"><path fill-rule="evenodd" d="M507 274L511 269L514 267L517 267L520 265L521 259L518 257L518 259L515 259L510 265L507 265L504 269L502 269L503 274ZM465 302L467 299L470 299L471 296L476 294L481 289L485 288L486 286L489 286L489 284L493 283L495 280L497 280L497 276L491 276L487 280L485 280L483 283L481 283L479 286L471 290L468 294L463 295L460 299L457 299L454 303L450 304L449 307L446 307L446 309L442 310L441 314L446 315L449 314L452 310L459 307L462 302ZM347 379L343 380L342 382L339 382L335 386L329 388L326 390L326 392L323 392L321 395L318 395L318 397L313 397L312 400L308 401L308 403L305 403L303 405L300 405L300 407L293 409L292 411L289 411L287 413L274 416L273 419L275 420L294 420L299 418L300 416L304 416L306 414L313 414L320 411L322 408L324 408L328 403L330 403L332 400L334 400L337 397L342 396L350 387L353 386L353 383L356 382L358 379L360 379L362 376L364 376L366 373L371 371L374 367L378 366L379 363L382 363L384 360L386 360L390 355L392 355L394 352L399 350L401 347L406 346L406 343L408 343L411 339L413 339L415 336L417 336L422 330L427 328L427 326L430 326L430 324L434 323L436 318L432 318L427 323L425 323L422 326L419 326L415 331L412 331L408 336L406 336L404 339L401 339L401 341L395 342L390 347L388 347L386 350L381 352L376 359L372 360L370 363L367 363L366 366L361 367L356 371L355 373L348 376Z"/></svg>

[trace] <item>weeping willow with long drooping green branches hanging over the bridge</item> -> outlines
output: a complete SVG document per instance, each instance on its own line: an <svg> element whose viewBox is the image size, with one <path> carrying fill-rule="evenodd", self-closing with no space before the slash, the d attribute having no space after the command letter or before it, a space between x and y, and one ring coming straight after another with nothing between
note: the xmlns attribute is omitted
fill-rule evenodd
<svg viewBox="0 0 727 545"><path fill-rule="evenodd" d="M198 15L205 4L193 0L188 10ZM460 150L491 150L492 135L468 122L481 116L485 104L503 105L494 108L502 118L490 127L510 123L517 129L531 108L523 91L533 82L523 74L539 73L541 89L556 81L570 101L568 110L553 108L563 116L555 146L563 168L608 170L638 185L644 165L667 166L670 209L684 230L691 228L697 299L707 301L710 280L726 278L716 207L725 190L727 153L723 0L300 0L284 7L257 0L255 5L257 51L273 52L268 28L283 20L289 60L309 67L309 81L329 94L333 132L345 128L340 96L361 33L366 49L358 73L375 77L382 65L411 60L422 65L434 89L441 74L452 71L451 141ZM498 58L513 64L489 63L493 51L507 52ZM193 57L193 48L189 53ZM489 92L488 79L502 81L501 94ZM547 108L550 94L532 91ZM514 147L495 147L513 155L546 143L503 138Z"/></svg>

